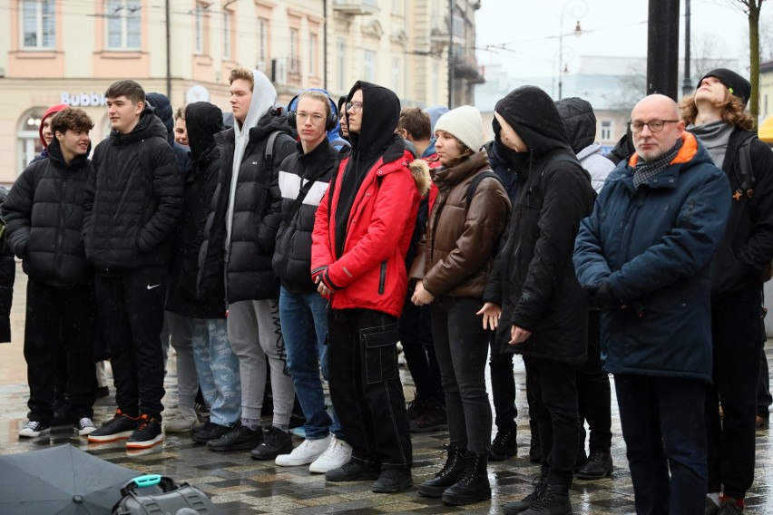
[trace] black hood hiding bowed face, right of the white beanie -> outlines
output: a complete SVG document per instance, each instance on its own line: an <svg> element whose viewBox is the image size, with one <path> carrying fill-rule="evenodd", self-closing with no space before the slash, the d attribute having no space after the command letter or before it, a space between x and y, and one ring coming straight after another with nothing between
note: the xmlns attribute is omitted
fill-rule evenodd
<svg viewBox="0 0 773 515"><path fill-rule="evenodd" d="M552 151L572 149L553 99L536 86L522 86L509 92L496 102L494 111L513 127L537 159Z"/></svg>

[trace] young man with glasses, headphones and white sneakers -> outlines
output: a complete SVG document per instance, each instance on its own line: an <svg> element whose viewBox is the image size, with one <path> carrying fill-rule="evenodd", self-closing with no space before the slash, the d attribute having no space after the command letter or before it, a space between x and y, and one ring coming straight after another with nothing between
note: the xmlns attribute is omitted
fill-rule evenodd
<svg viewBox="0 0 773 515"><path fill-rule="evenodd" d="M338 163L338 151L328 141L327 132L336 128L338 116L324 90L306 90L297 100L288 121L300 141L295 153L279 167L282 223L272 265L281 282L279 319L289 373L306 417L305 440L292 452L279 454L275 463L309 465L309 471L325 473L348 462L352 452L335 413L331 418L325 409L319 365L328 379L328 301L317 293L308 273L314 216Z"/></svg>

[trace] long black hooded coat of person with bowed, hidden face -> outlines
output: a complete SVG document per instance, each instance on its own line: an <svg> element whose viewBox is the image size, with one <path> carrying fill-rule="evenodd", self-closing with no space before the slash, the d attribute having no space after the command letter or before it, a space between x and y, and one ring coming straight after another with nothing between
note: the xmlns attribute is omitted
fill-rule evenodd
<svg viewBox="0 0 773 515"><path fill-rule="evenodd" d="M503 309L497 342L506 352L580 364L586 356L588 306L574 275L572 251L580 220L592 211L591 179L574 157L547 93L523 86L497 102L495 111L528 149L509 154L518 194L484 294L485 301ZM508 346L511 326L532 335Z"/></svg>

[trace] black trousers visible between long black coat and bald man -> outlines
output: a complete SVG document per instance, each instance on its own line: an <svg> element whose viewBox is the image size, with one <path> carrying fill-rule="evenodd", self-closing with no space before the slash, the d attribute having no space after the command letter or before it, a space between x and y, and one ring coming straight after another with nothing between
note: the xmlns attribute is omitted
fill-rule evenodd
<svg viewBox="0 0 773 515"><path fill-rule="evenodd" d="M602 370L599 311L588 312L588 360L577 368L577 400L580 411L580 448L585 445L585 425L591 432L590 452L612 448L612 388Z"/></svg>

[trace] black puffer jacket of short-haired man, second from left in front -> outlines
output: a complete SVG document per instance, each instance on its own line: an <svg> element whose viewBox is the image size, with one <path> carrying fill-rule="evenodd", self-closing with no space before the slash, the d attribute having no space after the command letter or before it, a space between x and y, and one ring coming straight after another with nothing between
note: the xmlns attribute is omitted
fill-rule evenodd
<svg viewBox="0 0 773 515"><path fill-rule="evenodd" d="M165 266L180 223L184 177L150 109L129 134L97 145L84 196L83 243L97 273Z"/></svg>

